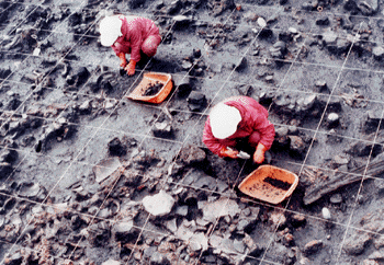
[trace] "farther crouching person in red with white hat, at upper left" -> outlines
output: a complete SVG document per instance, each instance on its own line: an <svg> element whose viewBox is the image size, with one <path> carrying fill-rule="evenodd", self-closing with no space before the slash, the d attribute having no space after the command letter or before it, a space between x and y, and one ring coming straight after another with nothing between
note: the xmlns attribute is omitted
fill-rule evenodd
<svg viewBox="0 0 384 265"><path fill-rule="evenodd" d="M135 73L140 53L153 57L161 42L159 28L155 22L134 15L111 15L100 22L100 41L103 46L111 46L120 58L120 66L128 76ZM131 54L127 64L125 54Z"/></svg>

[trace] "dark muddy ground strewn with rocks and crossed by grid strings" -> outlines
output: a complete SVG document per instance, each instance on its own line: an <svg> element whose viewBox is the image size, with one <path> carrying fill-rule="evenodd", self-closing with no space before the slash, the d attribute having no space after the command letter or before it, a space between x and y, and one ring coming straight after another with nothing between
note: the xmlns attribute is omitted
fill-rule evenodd
<svg viewBox="0 0 384 265"><path fill-rule="evenodd" d="M133 77L113 13L161 28ZM1 1L0 31L1 264L384 264L382 1ZM127 99L148 71L160 104ZM231 95L269 110L280 204L202 142Z"/></svg>

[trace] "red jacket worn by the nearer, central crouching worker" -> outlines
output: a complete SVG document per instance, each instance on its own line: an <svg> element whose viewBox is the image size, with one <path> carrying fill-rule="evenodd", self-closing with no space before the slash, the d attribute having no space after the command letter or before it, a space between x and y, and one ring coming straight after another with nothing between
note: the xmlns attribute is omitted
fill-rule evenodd
<svg viewBox="0 0 384 265"><path fill-rule="evenodd" d="M268 120L268 111L256 100L249 96L233 96L224 104L236 107L241 115L241 122L237 131L226 139L217 139L213 136L210 117L205 122L203 142L214 153L218 154L223 147L234 146L236 138L250 136L253 131L260 134L260 141L267 150L271 148L274 139L274 126Z"/></svg>

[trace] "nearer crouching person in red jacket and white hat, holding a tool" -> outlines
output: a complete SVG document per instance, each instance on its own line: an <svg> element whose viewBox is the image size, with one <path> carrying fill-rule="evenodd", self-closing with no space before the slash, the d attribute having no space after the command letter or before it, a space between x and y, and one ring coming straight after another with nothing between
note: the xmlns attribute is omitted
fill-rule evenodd
<svg viewBox="0 0 384 265"><path fill-rule="evenodd" d="M249 96L233 96L215 105L205 122L205 146L219 157L235 159L239 152L234 148L244 139L256 148L253 161L262 163L274 139L268 111Z"/></svg>

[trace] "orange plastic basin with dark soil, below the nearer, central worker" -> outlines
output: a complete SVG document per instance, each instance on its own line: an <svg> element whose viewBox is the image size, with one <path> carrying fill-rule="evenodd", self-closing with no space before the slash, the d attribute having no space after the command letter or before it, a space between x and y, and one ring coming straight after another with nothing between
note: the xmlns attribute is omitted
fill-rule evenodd
<svg viewBox="0 0 384 265"><path fill-rule="evenodd" d="M292 195L298 176L273 165L260 165L239 185L239 189L250 197L271 204L280 204Z"/></svg>

